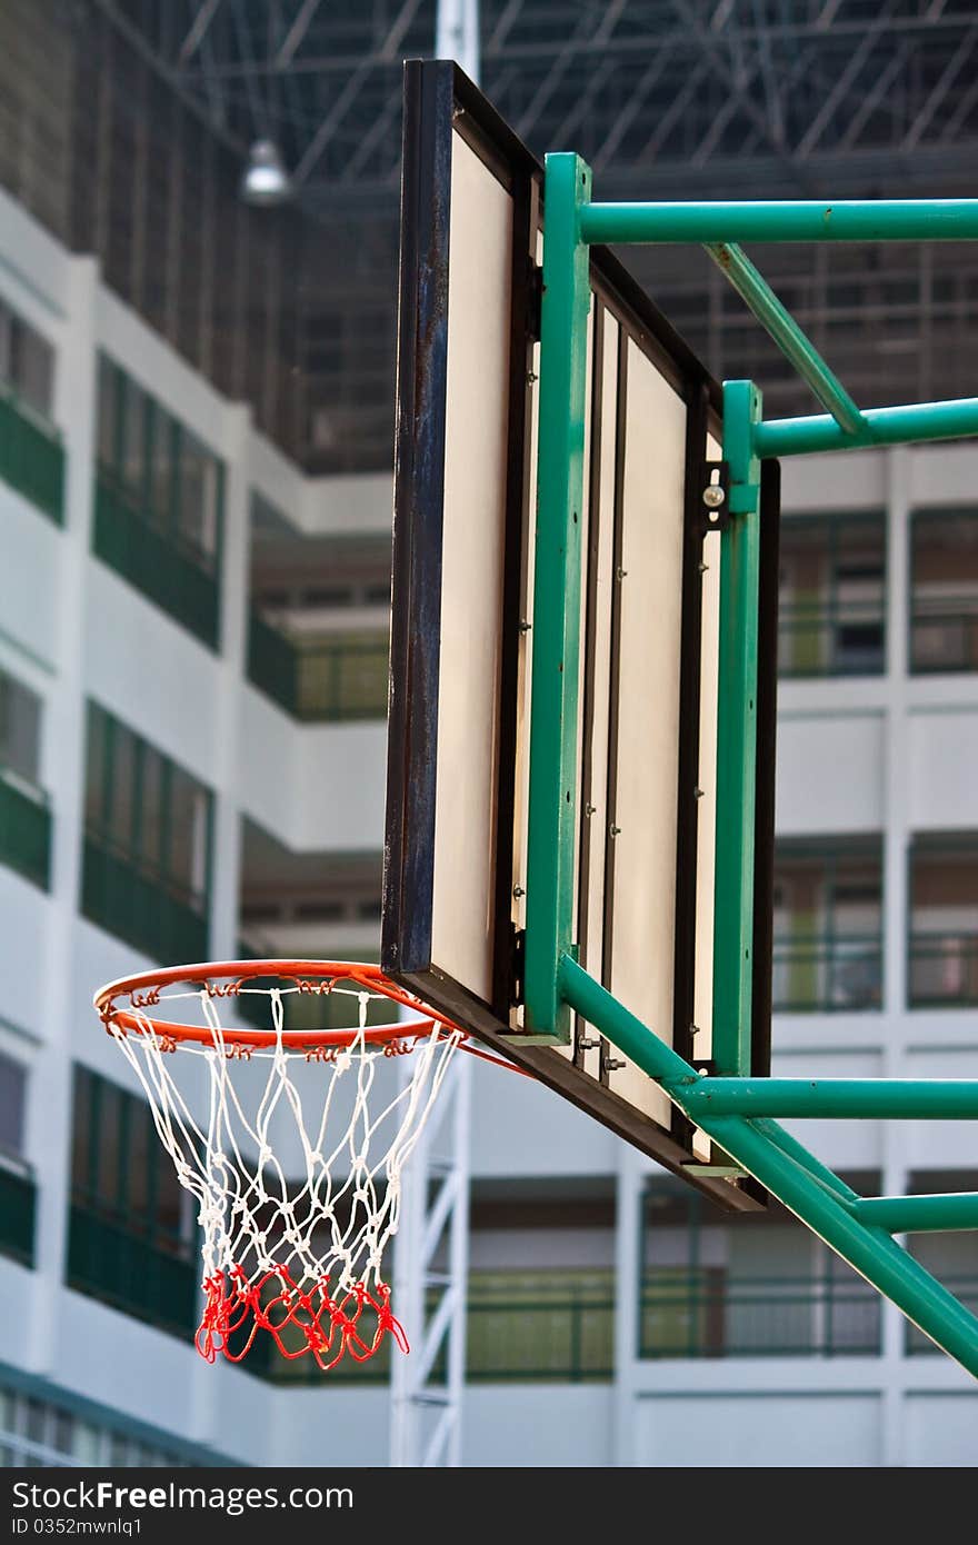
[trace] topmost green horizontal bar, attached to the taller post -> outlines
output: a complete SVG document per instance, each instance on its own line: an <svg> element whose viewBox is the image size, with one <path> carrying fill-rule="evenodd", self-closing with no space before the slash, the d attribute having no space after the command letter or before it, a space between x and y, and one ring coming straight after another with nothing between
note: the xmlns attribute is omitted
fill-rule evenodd
<svg viewBox="0 0 978 1545"><path fill-rule="evenodd" d="M586 204L584 241L975 241L978 199Z"/></svg>

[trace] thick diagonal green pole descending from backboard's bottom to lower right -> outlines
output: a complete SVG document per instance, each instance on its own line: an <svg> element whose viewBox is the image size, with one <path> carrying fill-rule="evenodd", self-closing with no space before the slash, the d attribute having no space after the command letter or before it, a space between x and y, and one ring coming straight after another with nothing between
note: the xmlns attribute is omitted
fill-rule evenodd
<svg viewBox="0 0 978 1545"><path fill-rule="evenodd" d="M578 1014L655 1078L725 1153L868 1282L891 1298L924 1335L978 1378L978 1319L919 1261L907 1255L887 1230L864 1222L856 1214L859 1199L853 1202L850 1196L839 1194L840 1182L836 1180L833 1187L822 1180L817 1160L773 1122L715 1115L712 1111L703 1115L692 1105L688 1108L689 1091L714 1080L697 1078L678 1052L660 1041L570 955L561 958L558 981ZM737 1082L731 1080L731 1088Z"/></svg>

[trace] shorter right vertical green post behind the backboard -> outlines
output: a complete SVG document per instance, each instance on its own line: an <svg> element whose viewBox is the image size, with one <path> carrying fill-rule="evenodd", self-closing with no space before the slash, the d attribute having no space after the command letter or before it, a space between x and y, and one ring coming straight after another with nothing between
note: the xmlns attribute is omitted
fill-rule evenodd
<svg viewBox="0 0 978 1545"><path fill-rule="evenodd" d="M726 382L723 456L731 474L731 519L720 545L712 1026L712 1060L722 1074L751 1071L760 581L760 460L754 454L754 428L759 420L760 392L752 382Z"/></svg>

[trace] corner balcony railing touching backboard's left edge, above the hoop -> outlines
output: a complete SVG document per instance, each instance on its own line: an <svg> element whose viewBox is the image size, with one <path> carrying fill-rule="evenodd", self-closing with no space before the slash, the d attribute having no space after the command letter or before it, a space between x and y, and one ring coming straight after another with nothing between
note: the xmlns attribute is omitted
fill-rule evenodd
<svg viewBox="0 0 978 1545"><path fill-rule="evenodd" d="M249 680L294 718L331 723L386 718L388 640L337 633L300 641L252 612Z"/></svg>

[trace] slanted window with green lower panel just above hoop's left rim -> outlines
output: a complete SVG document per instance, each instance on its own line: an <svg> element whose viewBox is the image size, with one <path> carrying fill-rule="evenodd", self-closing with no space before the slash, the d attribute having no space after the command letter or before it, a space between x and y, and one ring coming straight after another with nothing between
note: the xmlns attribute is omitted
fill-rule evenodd
<svg viewBox="0 0 978 1545"><path fill-rule="evenodd" d="M85 916L156 959L202 959L212 813L210 789L88 705Z"/></svg>

